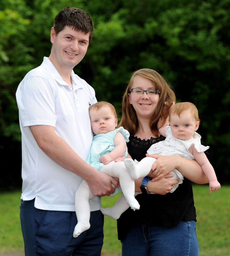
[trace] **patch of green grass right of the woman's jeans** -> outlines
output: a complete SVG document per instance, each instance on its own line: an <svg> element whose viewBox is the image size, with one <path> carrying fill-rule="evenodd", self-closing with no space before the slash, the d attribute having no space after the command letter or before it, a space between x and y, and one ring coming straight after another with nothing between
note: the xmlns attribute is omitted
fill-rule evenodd
<svg viewBox="0 0 230 256"><path fill-rule="evenodd" d="M230 187L209 193L208 185L193 186L200 256L230 255Z"/></svg>

